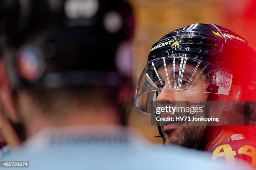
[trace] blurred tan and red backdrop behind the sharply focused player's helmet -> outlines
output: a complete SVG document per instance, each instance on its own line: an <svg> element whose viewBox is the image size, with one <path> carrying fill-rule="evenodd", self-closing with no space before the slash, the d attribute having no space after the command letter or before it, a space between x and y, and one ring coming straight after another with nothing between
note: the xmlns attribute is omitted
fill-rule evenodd
<svg viewBox="0 0 256 170"><path fill-rule="evenodd" d="M256 49L256 0L130 0L135 15L134 86L146 66L151 46L162 36L194 23L214 23L241 35ZM151 142L162 142L151 117L132 106L128 125Z"/></svg>

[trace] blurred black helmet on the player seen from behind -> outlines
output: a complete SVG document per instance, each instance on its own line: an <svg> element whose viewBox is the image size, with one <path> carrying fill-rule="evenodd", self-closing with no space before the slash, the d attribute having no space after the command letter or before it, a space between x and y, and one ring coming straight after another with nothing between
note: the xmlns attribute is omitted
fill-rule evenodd
<svg viewBox="0 0 256 170"><path fill-rule="evenodd" d="M0 22L14 90L119 86L131 76L125 0L2 0Z"/></svg>

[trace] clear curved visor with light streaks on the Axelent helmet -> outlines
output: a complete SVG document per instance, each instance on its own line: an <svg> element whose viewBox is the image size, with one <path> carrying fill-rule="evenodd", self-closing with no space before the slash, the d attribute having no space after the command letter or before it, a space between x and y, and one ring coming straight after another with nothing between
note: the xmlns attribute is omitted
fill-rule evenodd
<svg viewBox="0 0 256 170"><path fill-rule="evenodd" d="M136 87L134 103L141 112L148 113L149 107L146 106L156 101L163 90L178 90L183 94L194 91L229 95L232 77L230 71L197 57L157 58L148 62L143 70ZM194 96L194 100L200 100L197 96Z"/></svg>

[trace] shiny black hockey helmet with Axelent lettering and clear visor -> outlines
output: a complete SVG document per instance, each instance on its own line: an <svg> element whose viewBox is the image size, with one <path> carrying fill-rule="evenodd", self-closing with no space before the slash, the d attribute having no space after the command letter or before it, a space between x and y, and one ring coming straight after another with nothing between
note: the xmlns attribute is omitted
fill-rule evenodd
<svg viewBox="0 0 256 170"><path fill-rule="evenodd" d="M193 66L189 68L189 64ZM248 100L253 97L251 91L256 85L255 66L255 51L243 37L219 25L192 24L166 34L152 46L134 103L147 113L145 102L156 99L154 93L150 93L162 89ZM198 88L195 84L200 78L205 81Z"/></svg>

